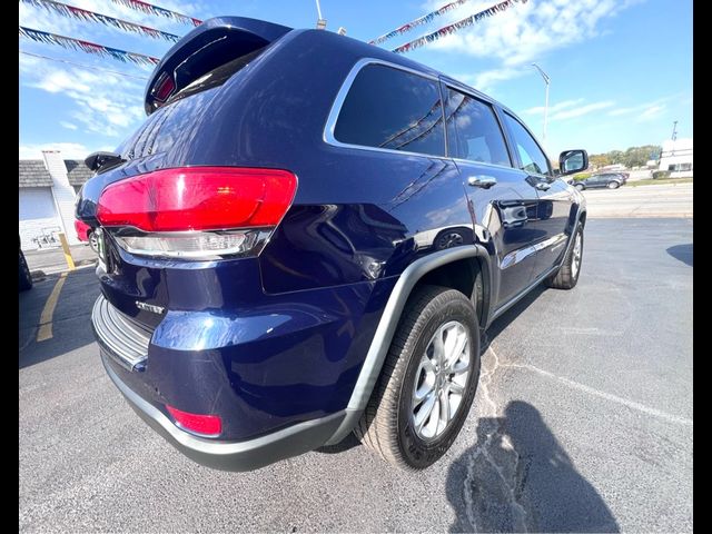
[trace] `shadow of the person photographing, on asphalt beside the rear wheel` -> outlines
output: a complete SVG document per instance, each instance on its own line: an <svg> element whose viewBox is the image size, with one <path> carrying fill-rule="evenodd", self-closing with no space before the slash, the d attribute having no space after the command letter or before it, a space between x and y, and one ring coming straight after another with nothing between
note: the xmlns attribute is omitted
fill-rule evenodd
<svg viewBox="0 0 712 534"><path fill-rule="evenodd" d="M477 443L448 468L451 532L620 532L538 411L511 402L481 418Z"/></svg>

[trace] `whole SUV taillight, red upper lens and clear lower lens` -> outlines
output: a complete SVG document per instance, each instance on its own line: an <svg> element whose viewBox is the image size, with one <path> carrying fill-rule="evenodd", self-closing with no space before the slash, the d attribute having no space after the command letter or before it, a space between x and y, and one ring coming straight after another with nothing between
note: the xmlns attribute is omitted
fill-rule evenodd
<svg viewBox="0 0 712 534"><path fill-rule="evenodd" d="M206 259L259 254L297 189L278 169L188 167L107 187L97 219L126 250Z"/></svg>

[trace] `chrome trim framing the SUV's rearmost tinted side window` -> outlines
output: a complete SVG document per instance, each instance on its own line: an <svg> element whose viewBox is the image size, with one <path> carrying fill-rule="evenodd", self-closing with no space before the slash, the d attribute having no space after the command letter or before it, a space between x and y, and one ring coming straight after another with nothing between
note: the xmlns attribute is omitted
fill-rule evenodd
<svg viewBox="0 0 712 534"><path fill-rule="evenodd" d="M336 137L334 137L334 129L336 128L336 121L338 120L338 116L342 112L344 100L346 100L346 96L348 95L348 91L350 90L352 85L354 83L354 80L356 79L358 73L368 65L382 65L384 67L402 70L409 75L418 76L421 78L425 78L426 80L431 80L435 82L435 85L437 86L438 95L441 96L441 102L444 103L443 95L439 88L439 78L437 76L431 75L427 72L421 72L415 69L411 69L409 67L404 67L402 65L392 63L390 61L384 61L383 59L363 58L356 61L354 67L352 67L352 70L348 72L348 75L346 76L346 79L342 83L342 87L336 93L336 98L334 99L334 103L332 103L332 109L329 110L329 115L326 119L326 126L324 127L324 135L323 135L324 142L333 147L339 147L339 148L356 148L358 150L368 150L372 152L400 154L405 156L418 156L421 158L436 158L436 159L451 160L452 158L447 157L447 144L445 141L446 139L445 134L443 135L443 155L442 156L424 154L424 152L409 152L407 150L393 150L390 148L369 147L366 145L352 145L350 142L342 142L337 140ZM443 117L445 116L443 115ZM444 122L443 122L443 130L446 130Z"/></svg>

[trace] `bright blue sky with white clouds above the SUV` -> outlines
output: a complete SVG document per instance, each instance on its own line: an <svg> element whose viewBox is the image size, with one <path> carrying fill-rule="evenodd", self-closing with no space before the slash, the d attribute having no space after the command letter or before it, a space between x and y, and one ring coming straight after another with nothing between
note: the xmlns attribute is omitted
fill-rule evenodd
<svg viewBox="0 0 712 534"><path fill-rule="evenodd" d="M65 0L70 6L171 33L190 27L130 10L111 0ZM322 0L328 30L369 40L448 0ZM233 0L151 3L207 19L253 17L295 28L316 22L314 0ZM427 26L386 41L395 48L496 3L465 2ZM161 57L168 41L61 18L20 3L20 24L123 50ZM20 39L20 158L58 148L83 158L111 150L144 120L150 69ZM551 77L546 148L591 154L692 137L691 0L528 0L407 56L481 89L512 108L542 138L544 83ZM82 67L73 63L81 63ZM102 70L103 69L103 70ZM109 71L129 76L119 76Z"/></svg>

